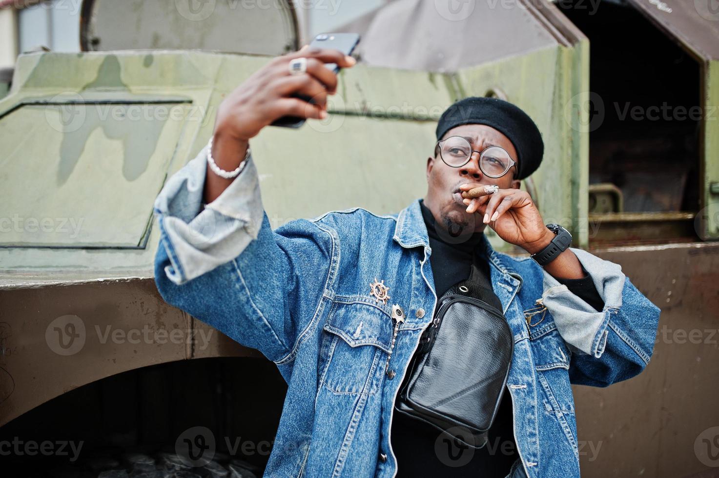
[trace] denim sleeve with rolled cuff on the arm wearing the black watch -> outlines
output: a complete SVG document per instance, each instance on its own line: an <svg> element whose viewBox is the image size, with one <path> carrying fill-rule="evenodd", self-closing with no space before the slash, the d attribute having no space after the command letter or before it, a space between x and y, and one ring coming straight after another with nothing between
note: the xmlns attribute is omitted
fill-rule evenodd
<svg viewBox="0 0 719 478"><path fill-rule="evenodd" d="M634 287L621 266L571 248L604 301L596 311L546 271L542 302L574 353L572 382L605 386L641 372L654 351L659 308Z"/></svg>

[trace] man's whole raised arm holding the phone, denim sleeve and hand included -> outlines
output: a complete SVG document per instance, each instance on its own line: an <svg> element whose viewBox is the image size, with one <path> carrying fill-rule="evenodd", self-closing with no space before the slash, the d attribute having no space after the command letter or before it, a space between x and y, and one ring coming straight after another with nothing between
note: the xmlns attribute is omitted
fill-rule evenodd
<svg viewBox="0 0 719 478"><path fill-rule="evenodd" d="M308 58L307 73L289 75L289 60L298 56ZM216 164L234 170L248 139L280 116L321 117L328 88L336 88L324 63L351 66L336 50L294 52L270 61L225 98L215 124ZM295 93L314 103L290 97ZM155 200L157 289L170 305L268 359L291 362L324 290L331 236L305 220L273 231L252 157L227 180L209 169L208 150L172 175Z"/></svg>

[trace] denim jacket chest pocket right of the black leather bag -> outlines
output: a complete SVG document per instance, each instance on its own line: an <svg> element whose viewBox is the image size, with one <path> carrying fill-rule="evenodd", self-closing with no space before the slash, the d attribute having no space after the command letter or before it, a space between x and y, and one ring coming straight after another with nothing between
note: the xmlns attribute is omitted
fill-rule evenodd
<svg viewBox="0 0 719 478"><path fill-rule="evenodd" d="M569 384L570 352L554 323L530 331L534 367L539 388L544 390L542 405L548 412L574 413L574 397Z"/></svg>

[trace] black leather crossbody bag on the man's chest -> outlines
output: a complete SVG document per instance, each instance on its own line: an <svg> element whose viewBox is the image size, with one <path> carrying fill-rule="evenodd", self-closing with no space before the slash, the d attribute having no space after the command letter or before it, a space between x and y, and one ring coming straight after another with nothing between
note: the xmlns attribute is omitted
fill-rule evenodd
<svg viewBox="0 0 719 478"><path fill-rule="evenodd" d="M514 349L501 303L480 285L477 260L470 277L437 300L395 404L475 449L487 443Z"/></svg>

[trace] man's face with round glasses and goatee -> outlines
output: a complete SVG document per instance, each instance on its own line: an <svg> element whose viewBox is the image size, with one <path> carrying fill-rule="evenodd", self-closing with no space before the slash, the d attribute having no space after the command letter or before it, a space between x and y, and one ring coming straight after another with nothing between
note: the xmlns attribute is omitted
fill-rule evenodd
<svg viewBox="0 0 719 478"><path fill-rule="evenodd" d="M479 152L490 146L503 147L513 160L518 161L512 142L493 127L484 124L463 124L450 129L442 139L450 136L467 137L472 144L472 150ZM467 205L462 202L459 186L465 183L478 183L496 184L500 189L518 189L520 181L514 179L515 175L516 167L510 167L502 177L488 178L480 170L478 152L472 152L472 157L466 165L452 167L442 161L437 151L435 157L427 158L427 196L424 198L424 205L432 211L434 219L452 236L483 231L486 226L482 222L484 207L480 207L475 213L467 213Z"/></svg>

